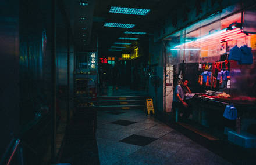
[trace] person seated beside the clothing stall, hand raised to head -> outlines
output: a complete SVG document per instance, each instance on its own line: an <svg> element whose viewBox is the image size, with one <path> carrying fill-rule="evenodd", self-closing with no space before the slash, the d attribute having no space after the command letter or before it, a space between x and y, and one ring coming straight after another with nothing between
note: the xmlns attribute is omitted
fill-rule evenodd
<svg viewBox="0 0 256 165"><path fill-rule="evenodd" d="M175 88L175 92L173 93L173 107L176 107L179 109L180 117L184 121L187 118L192 118L191 115L191 108L189 108L189 105L185 98L185 93L191 93L189 87L187 84L189 81L187 79L183 79L180 85L177 85Z"/></svg>

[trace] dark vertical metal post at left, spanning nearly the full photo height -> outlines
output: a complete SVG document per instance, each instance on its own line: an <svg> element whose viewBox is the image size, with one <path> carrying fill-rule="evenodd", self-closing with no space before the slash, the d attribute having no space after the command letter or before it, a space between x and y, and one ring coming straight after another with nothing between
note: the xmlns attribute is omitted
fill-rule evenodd
<svg viewBox="0 0 256 165"><path fill-rule="evenodd" d="M52 0L52 145L51 162L56 158L56 0Z"/></svg>

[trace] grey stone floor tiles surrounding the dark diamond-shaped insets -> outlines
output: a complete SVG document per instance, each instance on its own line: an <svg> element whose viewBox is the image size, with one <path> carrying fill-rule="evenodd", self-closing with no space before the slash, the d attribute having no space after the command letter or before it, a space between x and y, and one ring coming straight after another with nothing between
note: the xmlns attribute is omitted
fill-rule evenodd
<svg viewBox="0 0 256 165"><path fill-rule="evenodd" d="M97 112L96 137L99 161L102 165L231 164L143 111L123 112L125 113L119 115L106 111ZM128 126L112 123L118 120L136 123ZM133 134L156 140L145 146L120 142Z"/></svg>

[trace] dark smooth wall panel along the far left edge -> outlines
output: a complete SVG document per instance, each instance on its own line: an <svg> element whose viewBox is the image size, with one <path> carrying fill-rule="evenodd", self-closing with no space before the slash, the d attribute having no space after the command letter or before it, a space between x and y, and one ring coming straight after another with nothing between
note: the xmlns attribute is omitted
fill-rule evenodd
<svg viewBox="0 0 256 165"><path fill-rule="evenodd" d="M19 130L19 1L0 5L0 156Z"/></svg>

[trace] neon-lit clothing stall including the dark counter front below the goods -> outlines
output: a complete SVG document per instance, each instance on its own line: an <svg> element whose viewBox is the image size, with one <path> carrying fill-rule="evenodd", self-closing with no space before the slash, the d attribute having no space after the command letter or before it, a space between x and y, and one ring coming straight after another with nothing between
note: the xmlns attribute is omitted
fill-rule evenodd
<svg viewBox="0 0 256 165"><path fill-rule="evenodd" d="M209 129L223 131L225 123L215 121L223 121L227 106L236 109L232 120L250 114L256 123L255 34L243 31L243 16L244 10L218 13L166 38L166 66L176 68L174 83L180 72L189 80L193 120Z"/></svg>

